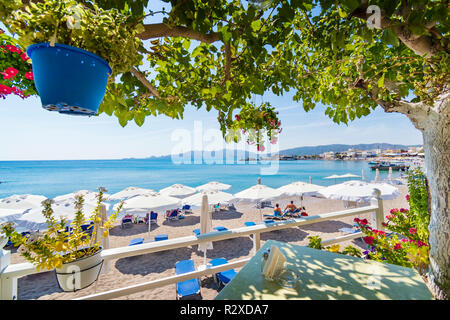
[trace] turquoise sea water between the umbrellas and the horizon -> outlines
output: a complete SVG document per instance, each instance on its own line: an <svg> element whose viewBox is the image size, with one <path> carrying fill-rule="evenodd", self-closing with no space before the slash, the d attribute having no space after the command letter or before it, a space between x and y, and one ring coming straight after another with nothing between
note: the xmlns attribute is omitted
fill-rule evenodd
<svg viewBox="0 0 450 320"><path fill-rule="evenodd" d="M299 160L266 164L174 164L171 160L67 160L67 161L0 161L0 198L13 194L39 194L48 198L77 190L96 190L102 186L112 194L134 186L159 191L174 183L196 187L212 180L232 185L227 192L236 193L257 183L278 188L294 181L331 185L323 179L332 174L353 173L373 180L366 161ZM271 175L263 174L272 171ZM394 172L394 177L399 175ZM380 178L387 172L380 172ZM343 182L349 179L338 179Z"/></svg>

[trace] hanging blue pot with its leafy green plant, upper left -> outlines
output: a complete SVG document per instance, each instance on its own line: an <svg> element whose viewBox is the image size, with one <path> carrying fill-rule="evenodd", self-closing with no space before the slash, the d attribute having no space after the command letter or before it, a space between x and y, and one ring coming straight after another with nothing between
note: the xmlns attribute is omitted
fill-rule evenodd
<svg viewBox="0 0 450 320"><path fill-rule="evenodd" d="M139 64L142 25L95 2L46 0L11 7L9 30L27 48L42 106L95 115L108 81Z"/></svg>

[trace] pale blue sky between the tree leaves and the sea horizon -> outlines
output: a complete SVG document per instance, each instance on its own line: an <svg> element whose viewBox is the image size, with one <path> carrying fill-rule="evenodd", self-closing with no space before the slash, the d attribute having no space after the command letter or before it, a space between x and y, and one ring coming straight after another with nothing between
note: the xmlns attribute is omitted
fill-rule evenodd
<svg viewBox="0 0 450 320"><path fill-rule="evenodd" d="M163 5L152 2L152 9L160 10ZM148 17L145 22L159 19ZM269 152L326 144L423 143L422 134L404 115L388 114L377 107L364 118L338 125L324 114L323 105L305 112L292 96L289 92L282 96L266 93L254 99L256 103L270 102L279 111L283 131L277 145L266 147ZM256 151L243 142L225 144L217 113L192 106L186 106L183 120L150 116L142 127L130 121L123 128L116 117L106 114L83 117L47 111L39 97L0 99L0 161L144 158L225 147Z"/></svg>

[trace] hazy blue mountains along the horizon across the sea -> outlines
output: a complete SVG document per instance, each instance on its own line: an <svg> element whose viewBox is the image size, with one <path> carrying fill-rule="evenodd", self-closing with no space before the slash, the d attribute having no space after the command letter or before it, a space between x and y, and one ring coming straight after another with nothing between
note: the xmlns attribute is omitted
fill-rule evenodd
<svg viewBox="0 0 450 320"><path fill-rule="evenodd" d="M319 155L324 152L343 152L347 151L348 149L355 149L355 150L373 150L373 149L408 149L409 147L419 147L421 145L403 145L403 144L390 144L390 143L370 143L370 144L328 144L328 145L321 145L321 146L308 146L308 147L297 147L292 149L286 149L279 151L280 155L297 155L297 156L305 156L305 155ZM244 150L231 150L231 149L223 149L223 150L217 150L217 151L204 151L202 154L202 151L190 151L185 152L183 154L178 155L165 155L165 156L152 156L146 159L160 159L160 160L177 160L180 161L183 160L190 160L192 162L195 161L195 159L203 159L204 161L207 161L208 159L215 160L217 158L220 158L222 156L222 159L225 161L226 159L255 159L256 153L244 151ZM263 157L267 157L267 154L264 154ZM270 154L269 154L270 156Z"/></svg>

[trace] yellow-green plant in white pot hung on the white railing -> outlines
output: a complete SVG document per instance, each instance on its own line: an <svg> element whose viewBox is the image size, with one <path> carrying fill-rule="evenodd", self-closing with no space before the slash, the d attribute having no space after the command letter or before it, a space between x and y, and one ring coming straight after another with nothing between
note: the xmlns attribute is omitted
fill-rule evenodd
<svg viewBox="0 0 450 320"><path fill-rule="evenodd" d="M109 218L102 221L101 205L105 191L99 188L97 206L88 218L83 213L84 199L81 195L76 196L75 218L70 224L66 218L55 217L52 209L54 201L47 199L42 202L47 230L27 237L17 232L13 223L6 223L1 226L0 232L19 246L17 251L35 264L38 271L55 269L62 290L83 289L98 278L103 264L102 240L108 236L123 205L121 203ZM88 221L93 223L89 225ZM84 228L86 225L89 225L88 229Z"/></svg>

